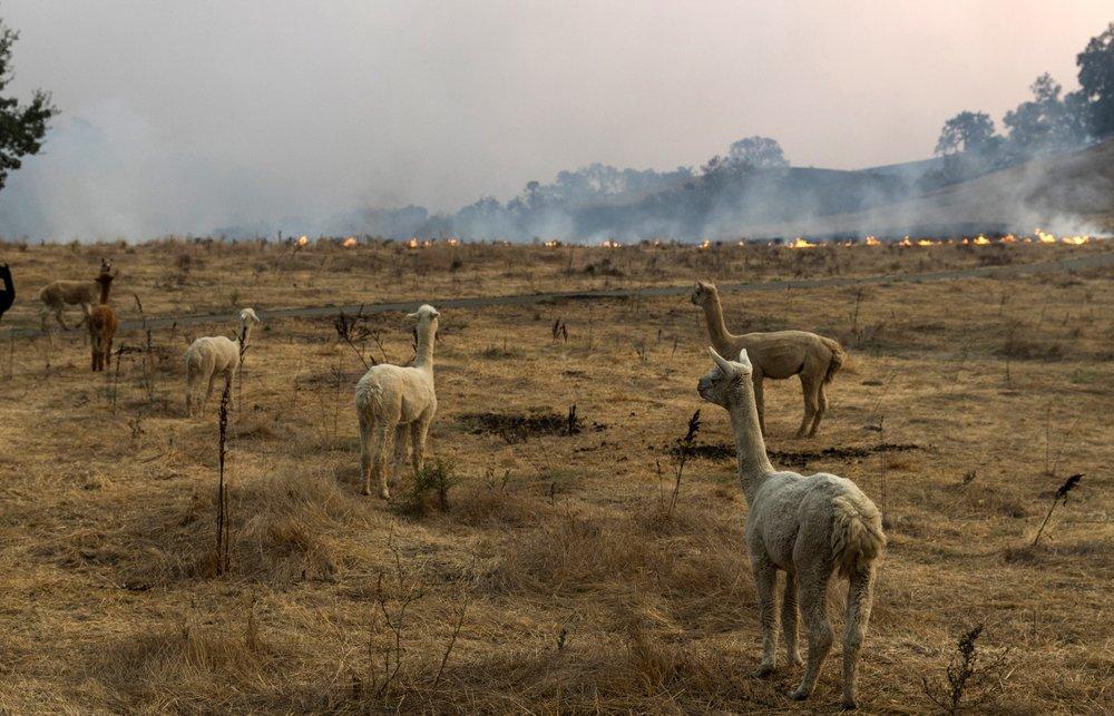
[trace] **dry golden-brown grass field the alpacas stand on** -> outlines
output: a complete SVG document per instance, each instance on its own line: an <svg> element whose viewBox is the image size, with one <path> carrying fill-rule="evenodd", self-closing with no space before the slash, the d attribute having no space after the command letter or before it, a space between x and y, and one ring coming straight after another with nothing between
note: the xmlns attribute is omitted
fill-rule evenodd
<svg viewBox="0 0 1114 716"><path fill-rule="evenodd" d="M817 331L851 355L817 438L791 439L795 380L766 383L766 421L775 467L850 478L886 518L860 709L937 710L924 679L939 696L957 638L985 624L984 659L1005 655L967 704L1110 712L1114 269L901 278L1107 251L0 245L19 293L2 326L37 325L38 286L102 255L125 318L133 294L147 316L263 318L231 396L224 575L218 410L184 416L180 356L234 324L118 336L101 374L84 332L0 331L0 712L838 710L838 644L803 704L783 653L751 676L746 506L726 413L695 392L711 363L686 297L444 311L430 437L444 487L407 470L390 503L358 492L352 390L361 360L411 355L409 325L374 315L352 347L332 318L267 310L882 273L723 295L736 332ZM672 449L697 409L671 511Z"/></svg>

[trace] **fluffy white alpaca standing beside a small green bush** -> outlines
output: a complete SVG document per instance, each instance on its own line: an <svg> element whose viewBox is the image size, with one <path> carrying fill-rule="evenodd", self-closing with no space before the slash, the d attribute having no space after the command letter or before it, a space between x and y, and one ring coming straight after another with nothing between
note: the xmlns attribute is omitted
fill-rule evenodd
<svg viewBox="0 0 1114 716"><path fill-rule="evenodd" d="M418 352L413 364L374 365L355 386L355 412L360 420L360 474L363 493L371 494L371 479L379 481L379 497L389 499L391 491L385 471L387 448L393 433L394 465L390 475L393 484L405 457L407 431L410 431L411 460L414 474L421 470L426 454L426 435L437 412L433 392L433 340L437 336L437 308L423 305L408 318L418 320Z"/></svg>

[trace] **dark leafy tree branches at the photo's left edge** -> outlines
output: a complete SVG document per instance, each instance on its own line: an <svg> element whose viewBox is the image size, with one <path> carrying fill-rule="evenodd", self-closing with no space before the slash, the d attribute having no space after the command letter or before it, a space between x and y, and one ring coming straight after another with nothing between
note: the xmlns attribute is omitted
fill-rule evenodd
<svg viewBox="0 0 1114 716"><path fill-rule="evenodd" d="M0 92L12 80L11 48L19 39L19 32L0 20ZM8 179L8 173L22 166L22 157L36 155L42 147L47 134L47 122L58 114L50 104L50 95L35 90L31 101L20 105L14 97L0 96L0 189Z"/></svg>

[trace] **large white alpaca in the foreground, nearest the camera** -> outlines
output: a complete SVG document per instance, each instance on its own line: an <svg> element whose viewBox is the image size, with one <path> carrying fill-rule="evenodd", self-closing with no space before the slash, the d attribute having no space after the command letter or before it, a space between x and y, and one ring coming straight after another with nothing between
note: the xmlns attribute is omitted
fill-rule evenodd
<svg viewBox="0 0 1114 716"><path fill-rule="evenodd" d="M808 698L832 645L825 598L832 571L848 578L847 630L843 637L843 705L854 707L854 673L870 619L874 559L886 546L882 518L874 503L850 480L823 472L803 477L775 472L766 457L759 428L751 381L751 362L743 350L739 362L709 349L713 367L696 386L704 400L731 414L739 459L739 479L746 498L746 547L759 597L762 622L762 663L758 675L773 670L778 637L774 583L785 572L781 626L792 664L797 655L797 611L809 638L809 663L800 686L790 694Z"/></svg>

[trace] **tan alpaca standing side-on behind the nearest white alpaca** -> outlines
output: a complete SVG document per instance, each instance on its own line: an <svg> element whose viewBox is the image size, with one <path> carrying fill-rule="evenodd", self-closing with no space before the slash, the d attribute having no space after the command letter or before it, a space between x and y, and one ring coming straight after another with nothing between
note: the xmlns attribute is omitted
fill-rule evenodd
<svg viewBox="0 0 1114 716"><path fill-rule="evenodd" d="M712 345L721 355L739 355L746 349L751 359L754 383L754 403L759 409L759 425L765 434L765 410L762 401L763 379L784 380L801 376L801 392L804 394L804 419L797 430L797 437L809 438L817 434L820 420L828 410L824 385L831 382L837 371L847 360L847 353L839 343L808 331L773 331L771 333L744 333L732 335L723 323L720 293L714 284L696 282L692 302L704 310L707 334Z"/></svg>

